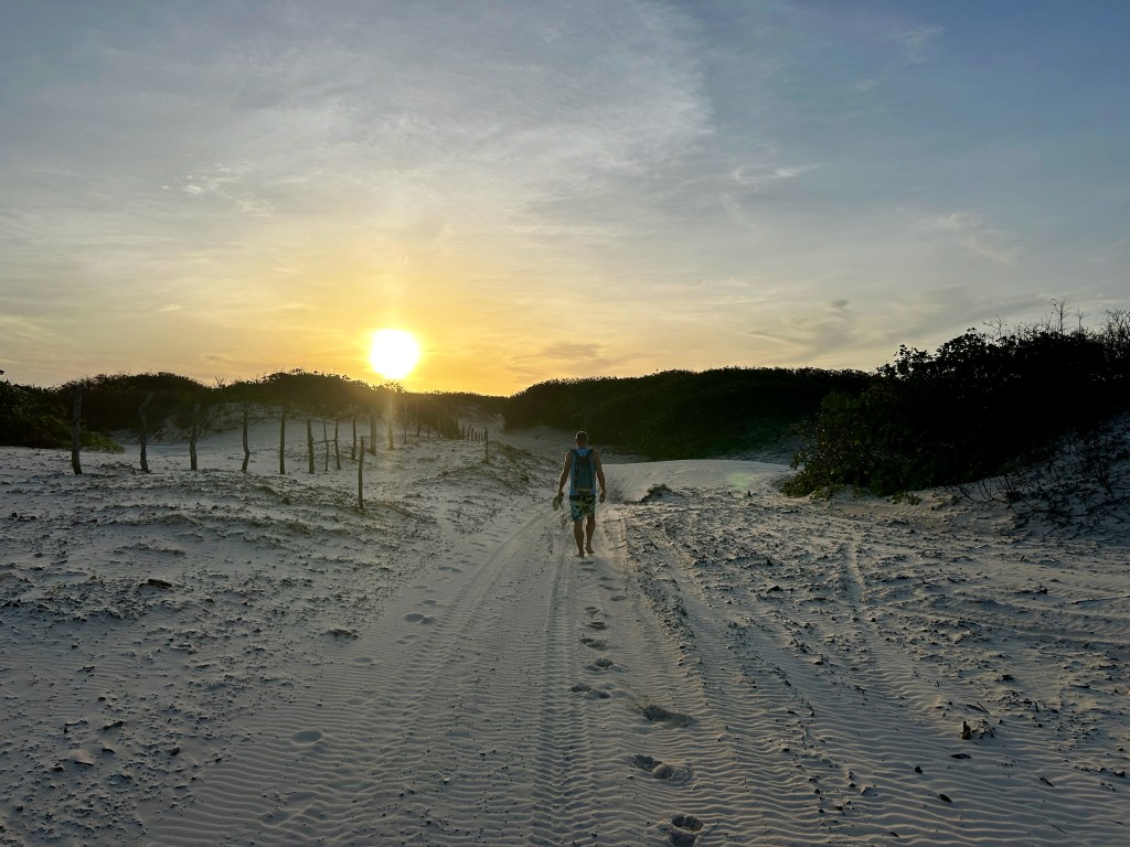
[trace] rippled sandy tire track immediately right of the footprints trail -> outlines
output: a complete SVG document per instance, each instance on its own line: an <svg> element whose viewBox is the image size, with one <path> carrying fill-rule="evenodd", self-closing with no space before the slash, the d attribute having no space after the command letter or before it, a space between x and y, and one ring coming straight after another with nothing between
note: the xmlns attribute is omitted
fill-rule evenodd
<svg viewBox="0 0 1130 847"><path fill-rule="evenodd" d="M819 795L800 752L799 716L810 706L790 672L774 663L775 644L759 638L753 649L733 652L732 620L710 608L686 567L686 552L664 532L631 516L623 521L631 566L640 570L642 593L659 620L680 635L681 684L697 700L694 717L704 737L693 748L684 741L670 753L694 762L684 806L707 829L710 844L823 842ZM661 585L651 576L655 569L666 571ZM679 832L673 823L672 832L672 842L694 841L693 832Z"/></svg>

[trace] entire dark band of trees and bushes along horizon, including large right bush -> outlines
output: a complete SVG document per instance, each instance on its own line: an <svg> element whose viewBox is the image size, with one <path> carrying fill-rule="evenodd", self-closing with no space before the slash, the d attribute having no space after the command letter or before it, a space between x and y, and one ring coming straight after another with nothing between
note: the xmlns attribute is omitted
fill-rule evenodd
<svg viewBox="0 0 1130 847"><path fill-rule="evenodd" d="M601 444L653 460L733 455L792 439L788 494L853 487L890 495L1008 474L1130 409L1130 312L1085 328L1081 318L1068 325L1063 304L1057 308L1031 326L971 329L933 352L901 347L872 373L669 370L554 379L510 398L410 394L302 370L215 386L167 373L102 375L56 388L0 382L0 443L70 444L79 385L87 448L113 446L108 434L138 431L146 398L149 420L181 431L200 422L200 409L211 410L208 427L231 426L249 407L333 420L372 420L374 410L395 408L406 428L463 438L459 410L473 408L502 416L506 429L588 429ZM1103 444L1103 461L1127 449L1118 438Z"/></svg>

